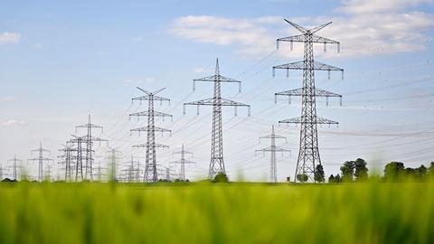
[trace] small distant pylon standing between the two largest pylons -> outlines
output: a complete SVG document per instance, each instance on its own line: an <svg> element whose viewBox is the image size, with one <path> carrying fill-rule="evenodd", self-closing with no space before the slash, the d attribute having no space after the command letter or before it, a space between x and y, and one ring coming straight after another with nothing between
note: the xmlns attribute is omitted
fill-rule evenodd
<svg viewBox="0 0 434 244"><path fill-rule="evenodd" d="M284 152L290 153L291 150L276 146L276 139L285 139L286 140L287 137L276 135L274 133L274 125L273 125L271 127L271 135L259 137L259 142L260 142L260 139L270 139L271 140L271 145L269 145L265 148L256 150L255 153L262 152L265 155L266 152L269 152L269 182L270 183L277 183L278 182L278 167L276 164L276 152L281 152L283 155Z"/></svg>

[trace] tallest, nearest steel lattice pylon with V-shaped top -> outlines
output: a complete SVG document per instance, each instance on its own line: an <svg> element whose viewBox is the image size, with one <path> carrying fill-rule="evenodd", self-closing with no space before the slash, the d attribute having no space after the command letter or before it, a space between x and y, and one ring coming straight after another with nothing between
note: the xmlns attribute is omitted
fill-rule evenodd
<svg viewBox="0 0 434 244"><path fill-rule="evenodd" d="M296 175L294 181L304 182L307 177L308 180L315 182L314 174L316 170L316 165L321 164L321 159L319 156L318 149L318 137L317 137L317 125L337 125L338 123L323 117L316 117L316 97L328 98L335 97L341 99L342 96L324 89L317 89L315 85L315 70L325 70L328 71L328 78L330 79L330 71L341 71L342 79L344 79L344 70L314 61L314 43L324 44L324 51L326 50L326 44L336 44L337 52L340 49L340 43L334 40L318 36L315 33L323 29L330 23L325 23L319 25L312 29L306 29L301 27L296 23L289 22L285 19L287 23L295 27L301 34L295 36L289 36L284 38L278 38L278 42L290 42L291 50L293 42L303 42L304 43L304 61L291 62L287 64L282 64L273 67L273 76L276 69L287 70L287 76L289 70L303 70L303 88L301 89L290 89L283 92L278 92L275 96L288 96L290 99L292 96L300 96L302 100L301 107L301 117L289 118L285 120L278 121L278 123L288 123L288 124L301 124L300 128L300 148L297 158ZM301 176L298 178L297 176Z"/></svg>

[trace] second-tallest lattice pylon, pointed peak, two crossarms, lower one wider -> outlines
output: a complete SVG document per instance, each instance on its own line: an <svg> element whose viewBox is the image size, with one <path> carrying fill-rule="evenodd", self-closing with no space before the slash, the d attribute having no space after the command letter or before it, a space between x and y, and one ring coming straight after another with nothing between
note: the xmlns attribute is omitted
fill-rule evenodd
<svg viewBox="0 0 434 244"><path fill-rule="evenodd" d="M230 99L222 99L222 83L238 83L239 92L241 92L241 81L226 78L220 75L219 59L215 64L215 74L201 79L193 80L193 90L195 89L196 81L213 82L214 96L212 99L202 99L198 101L184 103L184 114L186 105L196 105L197 114L199 114L200 106L212 106L212 139L211 139L211 161L208 178L212 179L216 174L226 174L223 161L223 129L222 129L222 106L234 107L235 116L237 115L238 107L249 108L250 105L232 101Z"/></svg>

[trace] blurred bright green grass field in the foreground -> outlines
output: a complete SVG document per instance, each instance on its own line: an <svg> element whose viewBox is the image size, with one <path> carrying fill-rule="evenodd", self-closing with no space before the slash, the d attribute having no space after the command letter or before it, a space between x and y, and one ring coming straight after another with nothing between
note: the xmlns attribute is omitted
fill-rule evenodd
<svg viewBox="0 0 434 244"><path fill-rule="evenodd" d="M434 183L1 183L0 243L434 243Z"/></svg>

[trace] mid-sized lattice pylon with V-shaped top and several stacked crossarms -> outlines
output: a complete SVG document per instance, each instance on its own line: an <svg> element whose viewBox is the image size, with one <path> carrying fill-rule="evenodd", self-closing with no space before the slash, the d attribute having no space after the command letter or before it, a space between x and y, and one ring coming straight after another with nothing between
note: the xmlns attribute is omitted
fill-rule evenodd
<svg viewBox="0 0 434 244"><path fill-rule="evenodd" d="M156 148L157 147L168 147L167 145L161 145L156 143L156 131L158 132L171 132L169 129L165 129L162 127L156 127L155 117L172 117L172 115L168 115L162 112L158 112L154 109L154 102L160 101L160 104L163 101L168 101L170 104L170 99L165 99L163 97L156 96L159 92L164 89L157 89L154 92L147 91L146 89L138 88L143 91L146 95L137 97L132 99L139 100L140 103L142 101L147 101L147 111L142 111L134 114L130 114L129 117L147 117L147 125L146 127L139 127L135 129L131 129L131 132L140 132L146 131L146 144L141 145L133 145L133 147L144 147L146 148L146 165L145 165L145 175L144 182L146 183L156 183L158 182L158 174L156 170Z"/></svg>

